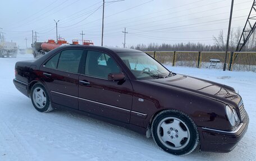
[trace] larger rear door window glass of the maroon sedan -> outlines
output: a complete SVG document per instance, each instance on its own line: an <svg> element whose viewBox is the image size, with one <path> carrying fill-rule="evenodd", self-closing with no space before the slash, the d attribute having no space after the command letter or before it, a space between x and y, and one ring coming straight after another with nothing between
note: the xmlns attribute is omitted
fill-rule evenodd
<svg viewBox="0 0 256 161"><path fill-rule="evenodd" d="M62 51L57 69L77 73L83 51L75 49Z"/></svg>

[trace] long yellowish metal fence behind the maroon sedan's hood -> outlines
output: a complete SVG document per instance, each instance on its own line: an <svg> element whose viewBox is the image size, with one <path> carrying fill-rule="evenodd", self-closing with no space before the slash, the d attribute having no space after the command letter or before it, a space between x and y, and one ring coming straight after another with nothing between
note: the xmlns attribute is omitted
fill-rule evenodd
<svg viewBox="0 0 256 161"><path fill-rule="evenodd" d="M164 65L223 69L225 52L147 51ZM256 72L256 52L228 52L227 70Z"/></svg>

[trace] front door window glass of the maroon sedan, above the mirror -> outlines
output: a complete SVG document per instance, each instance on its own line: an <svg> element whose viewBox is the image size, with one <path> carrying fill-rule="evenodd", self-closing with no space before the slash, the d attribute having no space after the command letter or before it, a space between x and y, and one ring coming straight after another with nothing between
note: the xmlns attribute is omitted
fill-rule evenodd
<svg viewBox="0 0 256 161"><path fill-rule="evenodd" d="M85 75L107 79L109 73L120 73L120 71L120 67L108 54L88 51L85 62Z"/></svg>

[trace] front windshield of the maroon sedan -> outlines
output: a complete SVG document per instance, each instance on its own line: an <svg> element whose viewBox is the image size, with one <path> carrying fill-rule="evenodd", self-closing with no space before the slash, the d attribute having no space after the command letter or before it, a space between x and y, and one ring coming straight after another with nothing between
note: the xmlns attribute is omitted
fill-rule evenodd
<svg viewBox="0 0 256 161"><path fill-rule="evenodd" d="M118 53L125 65L136 79L162 79L171 76L171 72L164 68L152 57L143 52Z"/></svg>

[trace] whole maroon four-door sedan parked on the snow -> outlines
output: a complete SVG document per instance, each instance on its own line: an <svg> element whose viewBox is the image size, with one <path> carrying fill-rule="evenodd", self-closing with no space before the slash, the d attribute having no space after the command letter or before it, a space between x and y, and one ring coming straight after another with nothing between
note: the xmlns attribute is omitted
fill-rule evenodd
<svg viewBox="0 0 256 161"><path fill-rule="evenodd" d="M39 112L67 108L146 135L164 151L228 152L249 117L234 88L168 71L139 50L69 45L15 65Z"/></svg>

